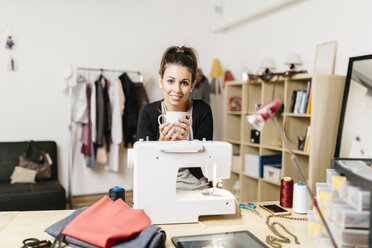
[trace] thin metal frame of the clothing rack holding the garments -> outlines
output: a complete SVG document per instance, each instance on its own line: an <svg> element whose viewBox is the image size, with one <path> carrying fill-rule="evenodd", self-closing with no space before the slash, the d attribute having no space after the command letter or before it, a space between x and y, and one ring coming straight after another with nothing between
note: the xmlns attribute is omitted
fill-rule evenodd
<svg viewBox="0 0 372 248"><path fill-rule="evenodd" d="M115 69L104 69L104 68L87 68L87 67L76 67L77 71L99 71L103 72L116 72L116 73L135 73L139 75L139 82L143 83L143 74L141 71L128 71L128 70L115 70ZM69 88L69 98L70 98L70 111L72 109L72 88ZM71 116L71 114L70 114ZM72 151L72 119L70 120L70 124L68 126L70 132L70 140L69 140L69 154L68 154L68 202L69 207L72 209L72 175L73 175L73 151Z"/></svg>

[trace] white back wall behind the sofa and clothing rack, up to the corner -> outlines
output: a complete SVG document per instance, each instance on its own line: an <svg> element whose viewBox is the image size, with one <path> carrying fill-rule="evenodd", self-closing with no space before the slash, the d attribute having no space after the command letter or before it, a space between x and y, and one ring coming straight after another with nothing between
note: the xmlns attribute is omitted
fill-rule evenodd
<svg viewBox="0 0 372 248"><path fill-rule="evenodd" d="M0 140L55 140L67 189L69 110L67 94L59 87L62 65L143 70L157 90L163 51L188 45L209 72L222 40L208 31L221 18L212 6L213 1L197 0L2 0L0 30L13 23L19 70L7 71L6 30L0 34ZM149 94L151 100L159 97L157 91ZM117 184L132 188L132 171L124 168L126 151L120 161L120 173L75 164L73 194L107 192Z"/></svg>

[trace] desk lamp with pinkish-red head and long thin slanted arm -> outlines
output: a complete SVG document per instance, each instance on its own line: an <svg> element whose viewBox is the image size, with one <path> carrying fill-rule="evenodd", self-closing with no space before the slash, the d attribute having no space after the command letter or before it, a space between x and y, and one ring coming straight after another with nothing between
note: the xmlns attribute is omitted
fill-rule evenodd
<svg viewBox="0 0 372 248"><path fill-rule="evenodd" d="M278 111L280 106L281 106L280 99L272 100L272 101L266 103L265 105L257 108L256 109L256 112L257 112L256 115L248 115L247 120L252 126L254 126L256 129L258 129L260 131L262 131L265 121L267 121L269 118L271 118L273 120L276 129L278 130L281 138L284 141L285 147L288 149L288 151L291 155L290 157L291 157L291 160L292 160L292 164L294 165L294 167L297 169L298 173L300 174L300 177L301 177L302 181L305 183L307 192L309 193L309 196L310 196L310 198L313 202L313 205L316 208L316 211L318 212L318 214L319 214L319 216L320 216L320 218L321 218L321 220L322 220L322 222L323 222L323 224L326 228L326 231L327 231L327 233L328 233L328 235L331 239L331 242L332 242L333 246L337 248L336 242L335 242L335 240L333 238L333 235L332 235L332 233L331 233L331 231L330 231L330 229L327 225L327 222L325 221L323 214L320 212L317 199L314 196L313 192L311 191L311 189L310 189L310 187L307 183L305 174L302 170L302 167L300 166L300 162L298 161L297 156L294 154L294 152L292 150L292 147L291 147L291 144L289 143L289 141L288 141L288 139L287 139L287 137L284 133L283 128L280 126L279 121L275 116L275 112Z"/></svg>

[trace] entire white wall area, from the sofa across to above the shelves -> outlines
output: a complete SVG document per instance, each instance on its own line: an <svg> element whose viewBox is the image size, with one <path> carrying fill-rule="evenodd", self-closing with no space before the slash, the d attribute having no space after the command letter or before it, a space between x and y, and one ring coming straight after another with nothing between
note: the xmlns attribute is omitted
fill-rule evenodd
<svg viewBox="0 0 372 248"><path fill-rule="evenodd" d="M274 1L274 0L272 0ZM279 0L276 0L277 2ZM267 1L265 2L267 3ZM236 78L243 66L257 71L265 56L277 70L289 51L312 71L316 44L338 41L336 74L345 75L348 58L371 53L372 2L312 0L213 34L210 26L252 10L259 0L2 0L0 31L13 23L19 71L7 71L9 51L0 34L0 141L52 139L58 144L60 179L67 188L68 98L59 89L60 68L75 66L144 70L152 79L151 100L159 97L157 71L163 50L188 45L199 52L206 74L220 58ZM223 6L223 15L215 5ZM131 188L131 171L90 171L75 165L73 194L107 192L114 184Z"/></svg>

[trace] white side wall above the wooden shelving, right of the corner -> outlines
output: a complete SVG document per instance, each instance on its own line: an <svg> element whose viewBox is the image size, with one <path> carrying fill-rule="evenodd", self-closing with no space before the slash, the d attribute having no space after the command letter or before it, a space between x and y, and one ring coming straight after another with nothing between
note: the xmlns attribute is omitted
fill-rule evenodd
<svg viewBox="0 0 372 248"><path fill-rule="evenodd" d="M244 16L268 2L283 0L225 1L225 20ZM302 69L313 70L316 45L338 42L335 74L346 75L349 57L371 54L372 2L368 0L298 1L283 10L244 23L224 32L226 57L223 66L239 75L242 67L253 73L264 57L272 57L277 71L288 70L283 62L289 51L298 52ZM219 23L219 22L217 22Z"/></svg>

